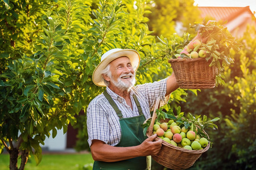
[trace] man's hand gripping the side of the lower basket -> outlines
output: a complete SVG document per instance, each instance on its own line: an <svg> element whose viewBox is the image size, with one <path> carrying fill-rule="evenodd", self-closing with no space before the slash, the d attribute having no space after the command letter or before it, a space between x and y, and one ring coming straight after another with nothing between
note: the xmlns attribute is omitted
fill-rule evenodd
<svg viewBox="0 0 256 170"><path fill-rule="evenodd" d="M154 141L156 134L148 137L144 142L139 145L139 152L143 152L143 155L156 155L162 147L162 139Z"/></svg>

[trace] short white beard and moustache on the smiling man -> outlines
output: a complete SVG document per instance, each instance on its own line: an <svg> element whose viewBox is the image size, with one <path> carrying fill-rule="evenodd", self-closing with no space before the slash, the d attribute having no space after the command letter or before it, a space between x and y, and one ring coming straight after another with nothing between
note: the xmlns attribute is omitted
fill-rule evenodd
<svg viewBox="0 0 256 170"><path fill-rule="evenodd" d="M122 80L122 76L131 76L131 80L126 80L126 82L123 82ZM120 90L130 90L131 87L134 86L134 84L136 83L135 80L135 74L121 74L118 78L117 81L115 81L112 77L111 77L111 82L114 84L114 86L116 86L117 88L119 88Z"/></svg>

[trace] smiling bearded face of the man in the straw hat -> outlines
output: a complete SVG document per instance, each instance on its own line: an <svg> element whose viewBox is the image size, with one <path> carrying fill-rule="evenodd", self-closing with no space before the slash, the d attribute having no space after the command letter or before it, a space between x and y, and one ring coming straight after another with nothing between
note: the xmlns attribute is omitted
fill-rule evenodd
<svg viewBox="0 0 256 170"><path fill-rule="evenodd" d="M119 57L110 62L112 74L110 83L121 90L128 90L135 84L135 74L128 57Z"/></svg>

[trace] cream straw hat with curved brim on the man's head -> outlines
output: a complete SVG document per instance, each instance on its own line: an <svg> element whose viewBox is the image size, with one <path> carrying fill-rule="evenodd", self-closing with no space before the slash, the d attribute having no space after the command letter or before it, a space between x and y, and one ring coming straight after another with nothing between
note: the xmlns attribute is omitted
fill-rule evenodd
<svg viewBox="0 0 256 170"><path fill-rule="evenodd" d="M101 62L93 71L93 83L97 86L105 87L106 85L104 83L104 78L101 75L101 71L114 59L124 56L130 59L131 66L133 66L134 71L136 71L139 67L139 62L141 61L141 57L139 57L139 53L136 50L119 48L111 49L101 56Z"/></svg>

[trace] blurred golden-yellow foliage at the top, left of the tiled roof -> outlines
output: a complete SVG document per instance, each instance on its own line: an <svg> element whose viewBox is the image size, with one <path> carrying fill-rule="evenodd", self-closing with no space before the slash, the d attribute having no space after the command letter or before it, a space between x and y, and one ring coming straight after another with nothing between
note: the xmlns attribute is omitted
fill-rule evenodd
<svg viewBox="0 0 256 170"><path fill-rule="evenodd" d="M193 29L189 28L189 25L201 21L200 11L193 6L193 3L193 0L151 1L152 10L146 15L150 19L148 27L154 31L153 34L156 36L170 37L176 32L180 36L184 32L193 33Z"/></svg>

